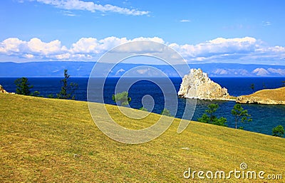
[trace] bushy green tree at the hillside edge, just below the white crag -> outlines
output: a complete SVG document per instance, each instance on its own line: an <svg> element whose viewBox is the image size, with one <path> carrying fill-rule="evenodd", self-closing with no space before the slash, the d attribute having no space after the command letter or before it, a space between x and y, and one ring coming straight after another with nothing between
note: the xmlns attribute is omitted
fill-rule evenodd
<svg viewBox="0 0 285 183"><path fill-rule="evenodd" d="M202 115L202 117L198 118L199 122L206 122L214 125L220 125L220 126L227 126L224 123L227 122L227 118L225 117L219 117L217 118L214 113L219 108L219 105L217 104L210 104L208 105L208 109L205 110L205 113Z"/></svg>

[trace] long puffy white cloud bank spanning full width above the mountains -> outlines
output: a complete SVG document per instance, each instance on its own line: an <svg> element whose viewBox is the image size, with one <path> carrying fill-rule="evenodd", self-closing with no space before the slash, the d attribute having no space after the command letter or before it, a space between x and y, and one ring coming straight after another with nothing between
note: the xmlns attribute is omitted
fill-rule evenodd
<svg viewBox="0 0 285 183"><path fill-rule="evenodd" d="M261 41L251 37L215 38L196 45L179 45L177 43L167 43L158 37L128 39L111 36L103 39L80 38L70 48L63 46L59 40L44 42L39 38L31 38L29 41L23 41L19 38L7 38L0 42L0 58L2 61L7 56L14 56L14 58L19 58L19 60L26 58L31 61L33 59L43 61L95 61L103 53L115 46L131 41L143 40L165 43L180 53L188 63L265 63L269 65L285 65L285 47L265 46ZM120 50L117 51L160 53L162 49L157 44L151 45L148 43L147 46L142 46L133 43L131 48L130 46L121 46ZM171 58L171 55L169 57ZM229 70L227 71L229 72ZM271 72L270 70L268 71Z"/></svg>

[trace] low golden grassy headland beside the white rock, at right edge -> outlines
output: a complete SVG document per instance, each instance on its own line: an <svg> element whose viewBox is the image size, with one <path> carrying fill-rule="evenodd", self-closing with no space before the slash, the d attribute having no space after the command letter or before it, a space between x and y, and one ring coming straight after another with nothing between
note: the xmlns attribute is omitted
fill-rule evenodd
<svg viewBox="0 0 285 183"><path fill-rule="evenodd" d="M257 103L267 105L285 105L285 87L271 90L259 90L252 95L237 97L237 103Z"/></svg>

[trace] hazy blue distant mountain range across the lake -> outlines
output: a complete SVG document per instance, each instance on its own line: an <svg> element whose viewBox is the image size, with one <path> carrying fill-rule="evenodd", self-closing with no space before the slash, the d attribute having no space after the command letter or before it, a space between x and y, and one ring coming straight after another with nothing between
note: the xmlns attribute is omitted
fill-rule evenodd
<svg viewBox="0 0 285 183"><path fill-rule="evenodd" d="M30 63L0 63L0 77L61 77L63 70L68 69L68 73L73 77L88 77L95 65L95 62L30 62ZM106 69L113 64L98 63L96 75L106 75L116 77L121 76L128 70L132 75L155 77L157 73L154 70L144 69L143 64L120 63L111 71ZM203 72L208 73L210 77L254 77L254 76L279 76L285 77L285 66L267 66L254 64L238 64L238 63L204 63L190 64L190 68L201 68ZM138 68L136 68L138 67ZM171 66L152 65L154 68L162 70L163 73L170 77L177 77L177 73ZM185 70L185 66L177 66L184 70L187 74L189 70Z"/></svg>

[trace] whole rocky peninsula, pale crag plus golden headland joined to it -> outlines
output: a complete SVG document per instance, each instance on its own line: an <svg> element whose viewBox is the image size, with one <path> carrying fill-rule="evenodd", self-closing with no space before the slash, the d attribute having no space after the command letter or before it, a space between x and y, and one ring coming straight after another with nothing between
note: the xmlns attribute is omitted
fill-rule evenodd
<svg viewBox="0 0 285 183"><path fill-rule="evenodd" d="M285 87L271 90L259 90L252 95L233 97L218 83L214 83L207 73L191 69L185 75L177 93L181 98L196 98L200 100L232 100L236 103L256 103L266 105L285 105Z"/></svg>

